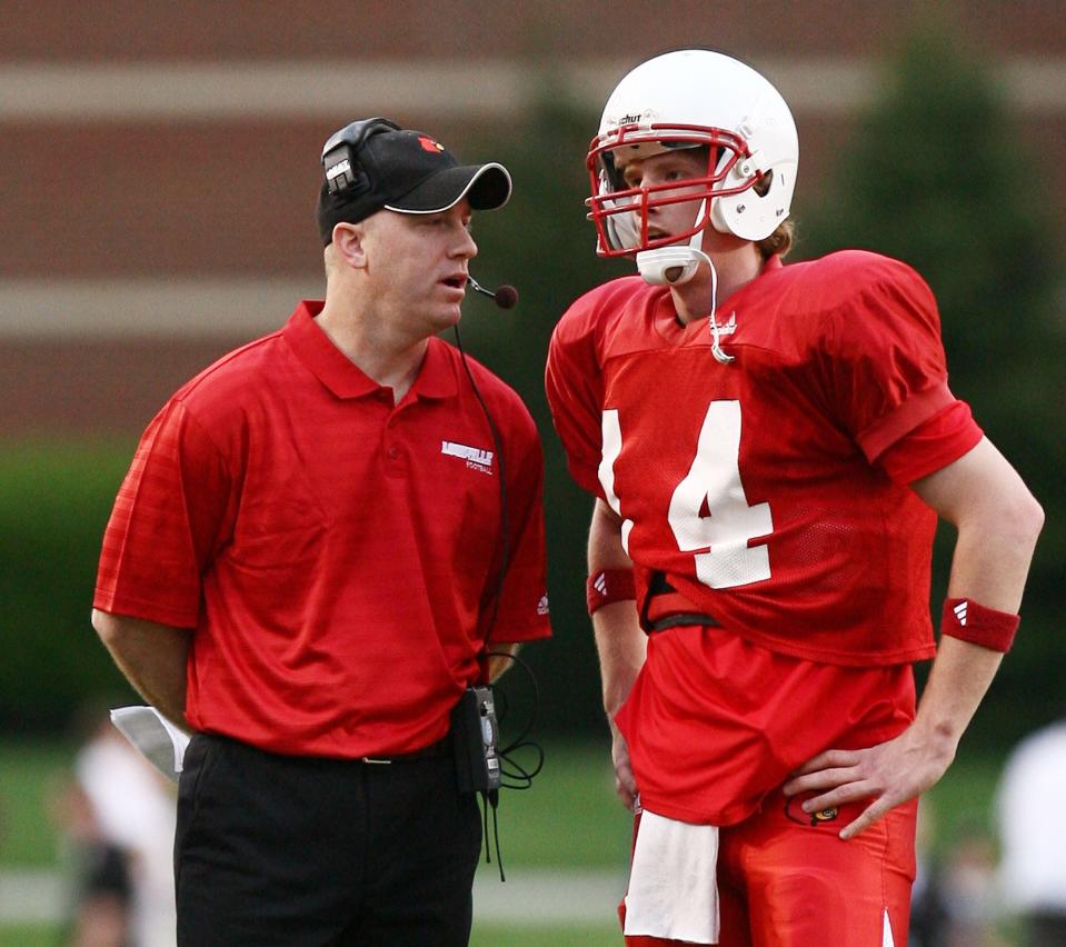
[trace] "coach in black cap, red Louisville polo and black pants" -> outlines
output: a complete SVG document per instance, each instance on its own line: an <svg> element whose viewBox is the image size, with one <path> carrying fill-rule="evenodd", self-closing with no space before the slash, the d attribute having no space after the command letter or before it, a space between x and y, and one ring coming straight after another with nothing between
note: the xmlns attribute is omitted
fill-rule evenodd
<svg viewBox="0 0 1066 947"><path fill-rule="evenodd" d="M322 159L325 302L167 402L103 538L93 626L195 731L181 945L466 944L449 715L549 634L532 419L436 338L510 177L382 119Z"/></svg>

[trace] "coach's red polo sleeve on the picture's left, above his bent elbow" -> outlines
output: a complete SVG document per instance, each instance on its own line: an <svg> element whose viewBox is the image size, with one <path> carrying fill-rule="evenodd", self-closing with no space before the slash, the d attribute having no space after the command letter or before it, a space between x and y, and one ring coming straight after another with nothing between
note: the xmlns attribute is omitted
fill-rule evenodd
<svg viewBox="0 0 1066 947"><path fill-rule="evenodd" d="M93 606L196 626L201 572L231 530L231 494L221 453L186 406L172 399L148 426L119 488Z"/></svg>

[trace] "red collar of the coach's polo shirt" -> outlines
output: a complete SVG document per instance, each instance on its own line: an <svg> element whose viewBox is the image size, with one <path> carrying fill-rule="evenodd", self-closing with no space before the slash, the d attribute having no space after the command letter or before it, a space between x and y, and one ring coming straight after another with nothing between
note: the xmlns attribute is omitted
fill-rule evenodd
<svg viewBox="0 0 1066 947"><path fill-rule="evenodd" d="M338 398L361 398L380 391L383 386L355 365L316 323L315 317L325 305L322 300L305 299L300 302L282 329L286 341L303 367ZM409 395L448 398L456 393L455 370L446 347L440 339L430 338Z"/></svg>

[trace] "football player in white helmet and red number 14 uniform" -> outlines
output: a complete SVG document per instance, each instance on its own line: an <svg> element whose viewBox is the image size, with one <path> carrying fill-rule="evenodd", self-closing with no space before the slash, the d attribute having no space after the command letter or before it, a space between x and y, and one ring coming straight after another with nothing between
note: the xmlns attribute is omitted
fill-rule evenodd
<svg viewBox="0 0 1066 947"><path fill-rule="evenodd" d="M598 252L639 276L566 312L547 391L595 496L631 945L907 943L917 797L1010 647L1043 524L913 269L783 266L798 158L777 90L705 50L626 76L588 154Z"/></svg>

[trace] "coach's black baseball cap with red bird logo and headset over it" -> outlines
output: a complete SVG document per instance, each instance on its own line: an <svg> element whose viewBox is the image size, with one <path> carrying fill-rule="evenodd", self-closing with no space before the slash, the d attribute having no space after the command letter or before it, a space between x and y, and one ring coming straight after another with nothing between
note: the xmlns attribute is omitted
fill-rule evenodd
<svg viewBox="0 0 1066 947"><path fill-rule="evenodd" d="M379 210L438 213L462 198L475 210L495 210L511 195L502 165L460 165L431 136L381 118L331 134L322 147L322 172L318 229L326 246L336 225L358 223Z"/></svg>

